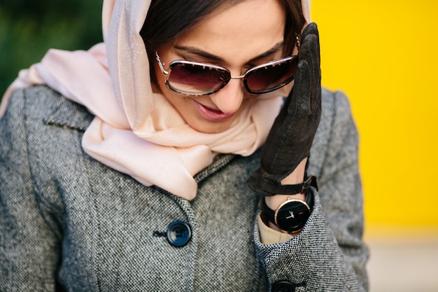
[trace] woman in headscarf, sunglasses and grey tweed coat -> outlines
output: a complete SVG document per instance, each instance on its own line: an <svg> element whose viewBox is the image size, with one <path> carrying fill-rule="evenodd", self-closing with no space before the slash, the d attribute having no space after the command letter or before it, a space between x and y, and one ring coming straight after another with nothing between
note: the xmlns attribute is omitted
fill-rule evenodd
<svg viewBox="0 0 438 292"><path fill-rule="evenodd" d="M180 2L104 1L104 44L6 92L0 290L366 291L357 132L306 3Z"/></svg>

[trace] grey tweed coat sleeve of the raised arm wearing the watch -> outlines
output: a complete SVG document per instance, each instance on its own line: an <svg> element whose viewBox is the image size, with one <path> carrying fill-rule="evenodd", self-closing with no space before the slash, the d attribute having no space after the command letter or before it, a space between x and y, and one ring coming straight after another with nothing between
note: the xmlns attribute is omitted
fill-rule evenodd
<svg viewBox="0 0 438 292"><path fill-rule="evenodd" d="M304 230L288 242L262 244L255 223L255 249L272 291L280 283L300 287L296 291L368 289L358 132L343 94L330 93L325 105L325 125L310 158L318 166L309 166L309 174L318 173L319 191L314 191L315 206Z"/></svg>

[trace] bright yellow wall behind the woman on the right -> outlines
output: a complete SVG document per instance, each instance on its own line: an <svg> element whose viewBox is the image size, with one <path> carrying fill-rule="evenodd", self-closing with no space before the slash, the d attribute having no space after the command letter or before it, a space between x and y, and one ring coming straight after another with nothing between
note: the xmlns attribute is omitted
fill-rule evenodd
<svg viewBox="0 0 438 292"><path fill-rule="evenodd" d="M360 132L369 228L438 227L438 1L313 0L323 85Z"/></svg>

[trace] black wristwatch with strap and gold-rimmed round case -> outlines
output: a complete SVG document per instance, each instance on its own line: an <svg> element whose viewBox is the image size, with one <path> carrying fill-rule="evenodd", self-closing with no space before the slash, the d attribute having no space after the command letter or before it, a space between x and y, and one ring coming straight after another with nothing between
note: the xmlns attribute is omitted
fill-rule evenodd
<svg viewBox="0 0 438 292"><path fill-rule="evenodd" d="M268 221L277 225L281 232L296 233L304 228L313 209L313 203L313 193L307 190L305 201L288 197L275 211L267 206L262 197L260 209L262 209L262 218L265 216Z"/></svg>

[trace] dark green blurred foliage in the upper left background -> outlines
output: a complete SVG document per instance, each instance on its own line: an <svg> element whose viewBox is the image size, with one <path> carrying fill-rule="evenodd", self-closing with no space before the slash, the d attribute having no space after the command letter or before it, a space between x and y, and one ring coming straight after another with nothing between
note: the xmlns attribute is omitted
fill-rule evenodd
<svg viewBox="0 0 438 292"><path fill-rule="evenodd" d="M0 99L20 69L48 49L87 50L102 41L102 0L0 0Z"/></svg>

